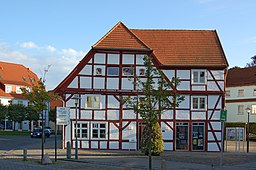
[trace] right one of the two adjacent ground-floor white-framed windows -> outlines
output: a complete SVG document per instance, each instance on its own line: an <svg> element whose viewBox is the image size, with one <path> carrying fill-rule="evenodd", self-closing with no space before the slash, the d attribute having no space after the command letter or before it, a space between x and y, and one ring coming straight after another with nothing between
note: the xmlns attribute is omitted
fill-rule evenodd
<svg viewBox="0 0 256 170"><path fill-rule="evenodd" d="M106 123L92 123L92 139L106 139Z"/></svg>

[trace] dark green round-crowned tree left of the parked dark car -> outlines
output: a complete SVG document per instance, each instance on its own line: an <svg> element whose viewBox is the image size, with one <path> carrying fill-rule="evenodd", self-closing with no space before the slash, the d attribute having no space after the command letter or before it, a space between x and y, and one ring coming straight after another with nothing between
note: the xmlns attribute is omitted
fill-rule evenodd
<svg viewBox="0 0 256 170"><path fill-rule="evenodd" d="M26 107L22 104L11 104L8 106L7 119L15 123L21 123L26 118ZM14 131L15 131L14 124Z"/></svg>

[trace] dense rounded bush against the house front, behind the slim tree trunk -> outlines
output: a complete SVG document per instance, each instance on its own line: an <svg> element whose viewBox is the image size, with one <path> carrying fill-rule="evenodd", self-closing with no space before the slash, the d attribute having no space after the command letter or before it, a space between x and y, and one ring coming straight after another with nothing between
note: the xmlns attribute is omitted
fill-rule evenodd
<svg viewBox="0 0 256 170"><path fill-rule="evenodd" d="M163 135L159 123L153 125L151 137L151 153L152 155L159 155L164 151ZM141 139L141 151L146 155L148 155L149 153L149 141L149 128L148 126L146 126L143 130Z"/></svg>

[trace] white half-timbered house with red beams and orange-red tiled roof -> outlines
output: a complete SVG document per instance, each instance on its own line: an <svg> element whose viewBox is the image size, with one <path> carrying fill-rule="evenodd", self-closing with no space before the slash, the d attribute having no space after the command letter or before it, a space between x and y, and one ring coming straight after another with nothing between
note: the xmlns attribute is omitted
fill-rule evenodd
<svg viewBox="0 0 256 170"><path fill-rule="evenodd" d="M143 56L152 56L166 80L181 80L179 107L160 118L165 150L220 151L220 111L225 101L228 66L217 32L212 30L140 30L119 22L103 36L56 87L71 123L64 143L75 147L75 104L79 94L78 147L139 149L144 124L121 98L136 95L129 79L145 78Z"/></svg>

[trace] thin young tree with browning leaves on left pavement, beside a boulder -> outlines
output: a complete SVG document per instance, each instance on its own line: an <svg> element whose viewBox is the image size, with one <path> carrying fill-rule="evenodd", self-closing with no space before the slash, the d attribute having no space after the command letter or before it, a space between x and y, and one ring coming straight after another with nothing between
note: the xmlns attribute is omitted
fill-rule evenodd
<svg viewBox="0 0 256 170"><path fill-rule="evenodd" d="M31 90L29 88L22 88L22 94L29 100L30 104L42 117L42 154L41 160L44 156L44 113L43 111L47 109L47 103L58 98L57 95L47 92L45 89L44 82L42 79L37 83L37 85L32 85Z"/></svg>

